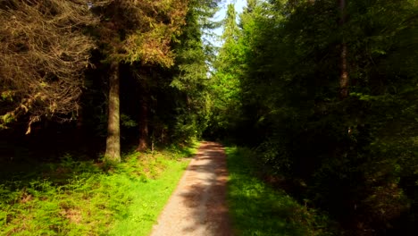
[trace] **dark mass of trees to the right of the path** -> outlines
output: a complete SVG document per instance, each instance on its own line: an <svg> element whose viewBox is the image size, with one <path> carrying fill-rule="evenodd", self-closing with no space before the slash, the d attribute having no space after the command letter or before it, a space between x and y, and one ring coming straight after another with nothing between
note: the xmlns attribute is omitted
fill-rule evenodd
<svg viewBox="0 0 418 236"><path fill-rule="evenodd" d="M414 235L417 13L406 0L248 1L238 31L225 21L214 83L238 86L221 89L213 129L347 235Z"/></svg>

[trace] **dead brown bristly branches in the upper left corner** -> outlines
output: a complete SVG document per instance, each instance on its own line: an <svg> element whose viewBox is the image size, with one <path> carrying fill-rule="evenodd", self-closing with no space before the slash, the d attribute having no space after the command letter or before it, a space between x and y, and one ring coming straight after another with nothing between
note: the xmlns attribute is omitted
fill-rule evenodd
<svg viewBox="0 0 418 236"><path fill-rule="evenodd" d="M96 24L86 1L9 0L0 5L0 117L71 119ZM4 104L4 105L3 105ZM70 118L69 118L70 117ZM0 119L0 124L5 120Z"/></svg>

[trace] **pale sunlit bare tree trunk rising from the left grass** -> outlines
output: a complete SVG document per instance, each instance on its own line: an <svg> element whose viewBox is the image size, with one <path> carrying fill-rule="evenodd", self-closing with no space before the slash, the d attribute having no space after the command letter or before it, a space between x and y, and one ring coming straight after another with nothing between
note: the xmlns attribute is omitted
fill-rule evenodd
<svg viewBox="0 0 418 236"><path fill-rule="evenodd" d="M121 161L121 124L119 97L119 63L112 63L109 79L109 114L104 161Z"/></svg>

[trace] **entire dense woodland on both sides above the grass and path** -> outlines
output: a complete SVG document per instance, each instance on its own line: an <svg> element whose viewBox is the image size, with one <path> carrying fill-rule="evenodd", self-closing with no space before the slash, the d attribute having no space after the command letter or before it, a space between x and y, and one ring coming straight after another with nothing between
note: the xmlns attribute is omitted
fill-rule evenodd
<svg viewBox="0 0 418 236"><path fill-rule="evenodd" d="M0 164L218 139L337 235L416 235L418 1L218 4L0 0Z"/></svg>

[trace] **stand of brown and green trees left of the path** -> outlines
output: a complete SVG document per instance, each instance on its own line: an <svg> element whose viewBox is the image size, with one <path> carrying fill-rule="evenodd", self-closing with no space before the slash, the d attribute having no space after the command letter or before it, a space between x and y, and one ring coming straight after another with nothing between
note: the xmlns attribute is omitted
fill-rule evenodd
<svg viewBox="0 0 418 236"><path fill-rule="evenodd" d="M118 162L133 139L145 151L199 137L209 109L202 35L217 4L1 1L4 153L60 142Z"/></svg>

